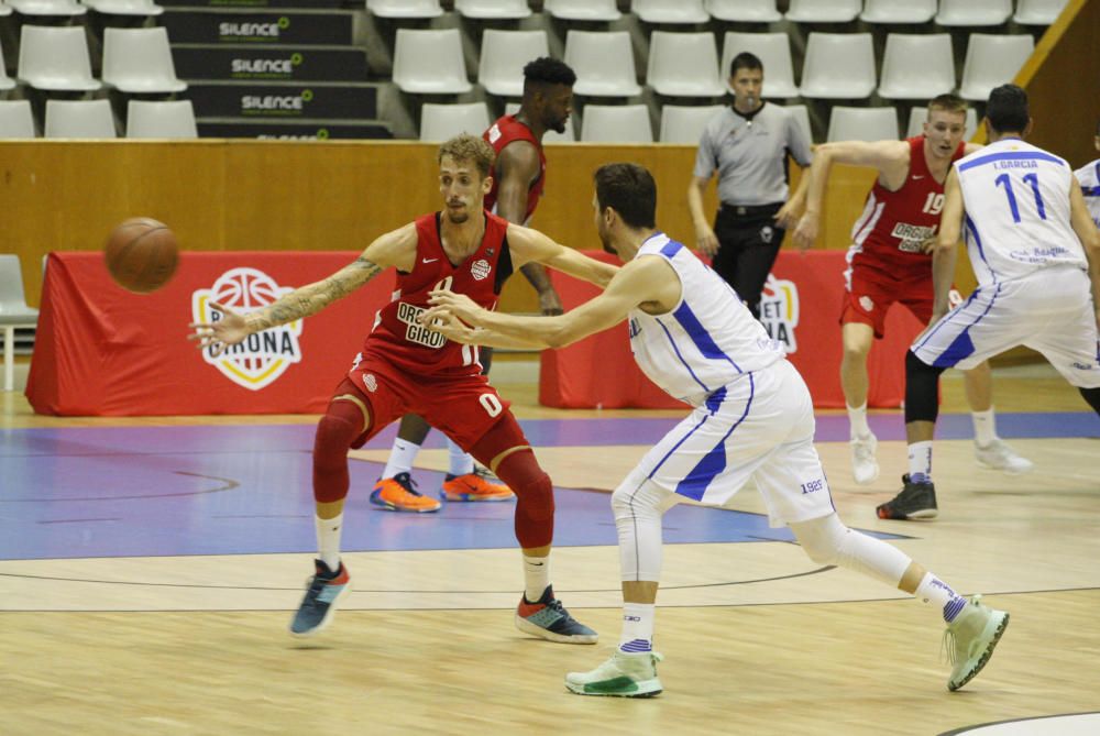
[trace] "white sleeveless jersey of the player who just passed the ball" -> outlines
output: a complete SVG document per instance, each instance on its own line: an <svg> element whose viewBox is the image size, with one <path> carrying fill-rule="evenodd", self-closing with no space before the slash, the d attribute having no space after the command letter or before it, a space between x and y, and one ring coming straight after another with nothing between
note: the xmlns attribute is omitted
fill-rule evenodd
<svg viewBox="0 0 1100 736"><path fill-rule="evenodd" d="M680 277L680 303L663 315L630 310L630 349L649 380L702 406L708 395L783 358L737 293L684 248L657 233L638 255L666 259Z"/></svg>

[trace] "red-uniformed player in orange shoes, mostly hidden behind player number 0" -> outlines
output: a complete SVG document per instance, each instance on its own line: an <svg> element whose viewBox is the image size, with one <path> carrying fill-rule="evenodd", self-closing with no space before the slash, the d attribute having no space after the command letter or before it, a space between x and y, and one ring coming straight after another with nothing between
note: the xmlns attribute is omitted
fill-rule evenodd
<svg viewBox="0 0 1100 736"><path fill-rule="evenodd" d="M565 131L573 105L576 75L564 63L543 56L524 67L524 101L514 116L504 116L490 125L483 138L496 152L493 188L485 196L485 209L508 222L526 226L538 207L546 187L547 160L542 136L548 130ZM539 294L543 315L560 315L561 299L538 263L520 266L524 276ZM492 348L480 354L487 375ZM397 438L382 477L374 486L371 503L396 512L436 512L440 503L416 491L413 462L430 427L424 418L409 414L402 418ZM448 501L512 501L507 486L493 483L474 468L473 458L448 438L450 466L440 495Z"/></svg>

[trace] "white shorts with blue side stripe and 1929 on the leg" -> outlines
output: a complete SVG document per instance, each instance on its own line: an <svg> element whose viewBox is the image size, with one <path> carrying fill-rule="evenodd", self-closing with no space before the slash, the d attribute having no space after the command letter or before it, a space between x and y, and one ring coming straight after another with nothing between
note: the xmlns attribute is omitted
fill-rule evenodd
<svg viewBox="0 0 1100 736"><path fill-rule="evenodd" d="M750 479L773 527L836 510L814 449L814 407L793 365L777 361L711 395L658 442L624 481L721 506Z"/></svg>

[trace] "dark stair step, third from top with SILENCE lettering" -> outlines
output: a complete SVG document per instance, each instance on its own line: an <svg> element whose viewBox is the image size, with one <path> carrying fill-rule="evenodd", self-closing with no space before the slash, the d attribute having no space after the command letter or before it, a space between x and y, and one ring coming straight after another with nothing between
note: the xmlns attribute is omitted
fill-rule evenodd
<svg viewBox="0 0 1100 736"><path fill-rule="evenodd" d="M187 80L197 118L374 119L378 85L354 81Z"/></svg>

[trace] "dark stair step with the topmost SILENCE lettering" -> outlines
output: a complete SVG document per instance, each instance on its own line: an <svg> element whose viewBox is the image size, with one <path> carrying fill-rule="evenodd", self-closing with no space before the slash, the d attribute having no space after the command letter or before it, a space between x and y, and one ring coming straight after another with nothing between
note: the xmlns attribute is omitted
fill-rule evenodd
<svg viewBox="0 0 1100 736"><path fill-rule="evenodd" d="M166 8L161 25L173 43L351 45L348 10Z"/></svg>

